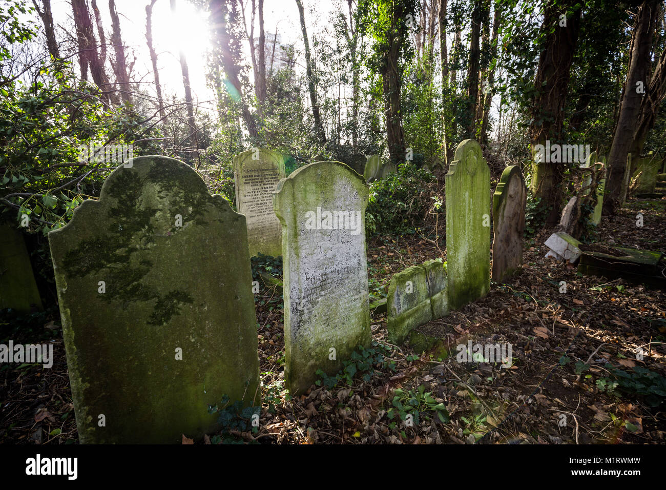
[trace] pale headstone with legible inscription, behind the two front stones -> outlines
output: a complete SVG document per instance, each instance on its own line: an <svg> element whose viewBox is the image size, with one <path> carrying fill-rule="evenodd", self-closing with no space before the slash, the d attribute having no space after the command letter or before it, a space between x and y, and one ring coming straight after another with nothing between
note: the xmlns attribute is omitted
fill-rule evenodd
<svg viewBox="0 0 666 490"><path fill-rule="evenodd" d="M252 148L234 157L236 210L245 215L250 256L282 254L282 231L272 202L280 179L284 179L280 153Z"/></svg>

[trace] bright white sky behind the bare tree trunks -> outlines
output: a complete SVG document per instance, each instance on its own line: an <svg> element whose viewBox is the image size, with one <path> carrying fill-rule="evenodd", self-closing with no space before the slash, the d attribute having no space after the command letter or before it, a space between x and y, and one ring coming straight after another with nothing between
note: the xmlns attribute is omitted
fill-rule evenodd
<svg viewBox="0 0 666 490"><path fill-rule="evenodd" d="M246 4L246 21L251 19L251 2L242 0ZM257 1L258 3L258 1ZM326 22L330 11L336 8L337 1L304 0L306 24L308 25L308 37L316 33L316 27ZM137 56L134 76L136 80L143 79L153 83L153 69L146 45L146 5L149 0L116 0L116 9L121 21L121 33L123 43L133 48ZM56 24L56 36L63 39L67 37L63 27L73 33L73 20L71 3L67 0L52 0L54 23ZM109 15L109 2L97 0L102 15L102 23L107 35L107 43L111 35L111 17ZM310 10L317 9L315 15ZM195 101L204 102L213 97L213 93L206 87L206 55L208 47L209 30L208 15L204 11L198 11L192 3L187 0L176 0L176 16L170 10L169 0L158 0L153 7L153 44L157 51L157 63L160 69L160 81L163 86L165 97L176 93L179 97L184 96L182 85L182 74L178 51L184 50L187 58L192 96ZM91 16L93 13L91 11ZM95 19L93 16L93 25ZM294 0L264 0L264 30L266 34L278 34L282 37L282 43L294 43L297 49L302 49L303 41L300 31L300 20L298 18L298 7ZM95 33L97 35L97 32ZM258 38L258 15L255 19L254 37ZM312 40L310 40L312 43ZM243 44L248 50L247 41ZM113 51L108 48L109 54ZM249 53L249 51L247 51ZM133 59L129 56L129 61Z"/></svg>

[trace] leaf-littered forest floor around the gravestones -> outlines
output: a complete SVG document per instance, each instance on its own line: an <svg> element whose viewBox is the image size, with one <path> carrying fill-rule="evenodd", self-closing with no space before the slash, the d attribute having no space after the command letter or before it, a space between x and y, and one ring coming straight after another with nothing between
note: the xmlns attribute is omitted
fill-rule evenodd
<svg viewBox="0 0 666 490"><path fill-rule="evenodd" d="M666 198L631 199L604 217L597 243L666 251L665 230ZM578 275L544 257L547 247L535 245L544 238L525 241L523 269L507 284L492 283L486 297L420 327L406 345L390 345L386 313L373 315L372 346L296 397L284 389L282 297L264 289L256 302L260 427L205 443L665 443L666 293ZM370 293L385 296L392 275L410 265L446 260L440 242L441 251L418 234L374 237ZM49 339L54 364L0 368L0 443L75 443L57 312L32 321L40 325L18 329L15 343ZM468 341L510 343L511 367L457 362L456 345Z"/></svg>

